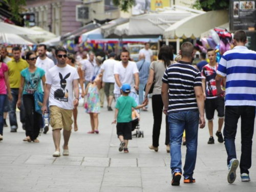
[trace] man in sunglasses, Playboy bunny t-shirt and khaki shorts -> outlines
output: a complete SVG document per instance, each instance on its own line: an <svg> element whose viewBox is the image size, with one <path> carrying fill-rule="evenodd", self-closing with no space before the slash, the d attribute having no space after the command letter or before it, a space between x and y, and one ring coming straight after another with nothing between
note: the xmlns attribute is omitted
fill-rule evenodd
<svg viewBox="0 0 256 192"><path fill-rule="evenodd" d="M47 101L49 99L51 126L53 130L53 141L55 152L53 157L60 156L60 130L63 129L63 155L69 155L69 138L71 134L72 111L79 103L79 75L77 70L66 63L67 50L57 47L56 58L58 63L49 70L46 77L46 90L42 113L47 112ZM75 98L73 98L73 90ZM50 96L50 97L49 97Z"/></svg>

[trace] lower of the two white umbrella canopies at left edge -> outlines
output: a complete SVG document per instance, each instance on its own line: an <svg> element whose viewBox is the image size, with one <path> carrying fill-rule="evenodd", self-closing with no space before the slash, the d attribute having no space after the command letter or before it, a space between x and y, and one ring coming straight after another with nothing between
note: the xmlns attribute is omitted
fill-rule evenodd
<svg viewBox="0 0 256 192"><path fill-rule="evenodd" d="M36 43L16 34L0 33L0 44L35 45Z"/></svg>

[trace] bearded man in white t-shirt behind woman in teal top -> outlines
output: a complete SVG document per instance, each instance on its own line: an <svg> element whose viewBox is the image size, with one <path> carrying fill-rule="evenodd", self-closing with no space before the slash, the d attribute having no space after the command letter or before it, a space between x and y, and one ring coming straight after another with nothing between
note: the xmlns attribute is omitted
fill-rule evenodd
<svg viewBox="0 0 256 192"><path fill-rule="evenodd" d="M47 47L44 44L39 44L37 46L37 52L39 57L37 57L36 59L36 63L35 66L38 68L41 68L45 71L45 75L47 76L49 69L51 69L52 67L54 67L54 62L52 59L48 58L46 55L47 52ZM42 83L42 82L41 82ZM44 91L44 88L42 87L42 90ZM49 124L46 124L45 119L42 118L42 123L41 127L44 127L44 134L46 134L49 130ZM49 119L48 119L49 122ZM40 129L40 133L42 133L42 128Z"/></svg>

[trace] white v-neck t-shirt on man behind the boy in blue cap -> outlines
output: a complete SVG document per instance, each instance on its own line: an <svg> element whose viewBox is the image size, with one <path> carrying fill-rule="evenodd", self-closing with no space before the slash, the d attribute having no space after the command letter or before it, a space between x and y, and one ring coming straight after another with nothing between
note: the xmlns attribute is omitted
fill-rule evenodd
<svg viewBox="0 0 256 192"><path fill-rule="evenodd" d="M119 75L121 84L128 83L131 86L131 91L135 92L134 74L139 73L136 62L129 61L126 68L123 67L122 61L119 61L114 66L114 74ZM120 94L120 88L115 82L114 94Z"/></svg>

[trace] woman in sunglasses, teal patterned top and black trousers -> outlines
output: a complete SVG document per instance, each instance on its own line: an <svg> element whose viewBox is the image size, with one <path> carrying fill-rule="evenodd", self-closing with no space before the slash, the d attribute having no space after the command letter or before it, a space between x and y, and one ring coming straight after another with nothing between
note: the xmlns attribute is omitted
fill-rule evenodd
<svg viewBox="0 0 256 192"><path fill-rule="evenodd" d="M35 66L36 55L33 52L28 52L26 60L29 67L20 72L20 86L18 93L17 105L22 104L22 97L24 108L26 112L25 130L26 138L23 141L39 142L37 139L40 131L40 118L41 114L36 112L35 92L42 94L41 80L45 86L46 77L45 71Z"/></svg>

